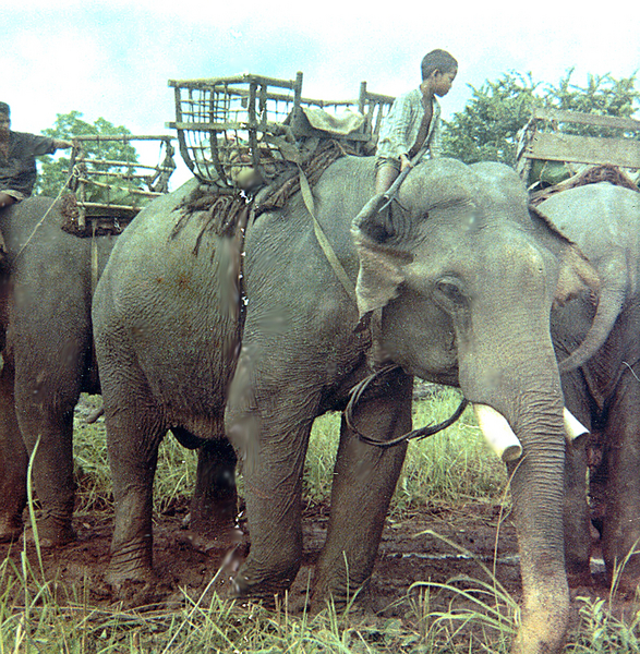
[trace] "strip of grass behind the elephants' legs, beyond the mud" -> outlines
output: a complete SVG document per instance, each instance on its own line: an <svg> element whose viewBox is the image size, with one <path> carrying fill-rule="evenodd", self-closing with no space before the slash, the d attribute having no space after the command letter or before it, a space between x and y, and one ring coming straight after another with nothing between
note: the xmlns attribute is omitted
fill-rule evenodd
<svg viewBox="0 0 640 654"><path fill-rule="evenodd" d="M84 398L90 407L99 398ZM414 427L443 422L460 401L455 389L419 400L413 408ZM79 511L112 506L106 429L100 419L86 424L81 415L74 424ZM328 413L314 422L304 471L304 497L319 504L330 495L340 434L340 414ZM178 498L190 497L195 485L197 452L183 448L170 435L160 445L154 487L154 509L165 510ZM502 497L506 484L504 464L491 452L467 410L452 426L430 438L411 441L391 502L397 513L412 506L437 501L463 501ZM239 484L242 489L242 483Z"/></svg>

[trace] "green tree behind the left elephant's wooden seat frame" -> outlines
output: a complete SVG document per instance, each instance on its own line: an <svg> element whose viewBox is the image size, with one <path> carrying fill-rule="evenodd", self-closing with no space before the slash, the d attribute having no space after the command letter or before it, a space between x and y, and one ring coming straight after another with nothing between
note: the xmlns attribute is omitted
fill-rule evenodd
<svg viewBox="0 0 640 654"><path fill-rule="evenodd" d="M52 138L64 138L72 141L74 136L118 136L131 135L131 132L122 126L116 126L104 118L98 118L93 124L82 120L80 111L69 113L58 113L55 125L49 130L44 130L45 136ZM93 159L108 161L131 161L137 162L137 153L135 147L123 141L88 141L82 143L85 155ZM70 153L70 150L67 150ZM64 154L60 157L46 156L40 159L40 174L36 182L35 191L43 195L56 197L69 180L69 166L71 155ZM104 165L100 170L109 171L112 166Z"/></svg>

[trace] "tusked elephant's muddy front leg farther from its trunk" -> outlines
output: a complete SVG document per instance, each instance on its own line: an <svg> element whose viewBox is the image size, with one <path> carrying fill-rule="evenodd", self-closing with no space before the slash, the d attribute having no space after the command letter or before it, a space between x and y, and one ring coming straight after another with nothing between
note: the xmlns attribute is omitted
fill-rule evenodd
<svg viewBox="0 0 640 654"><path fill-rule="evenodd" d="M319 393L311 384L280 384L261 389L258 403L255 389L240 386L232 386L225 422L241 461L251 549L233 593L273 602L302 562L302 477Z"/></svg>

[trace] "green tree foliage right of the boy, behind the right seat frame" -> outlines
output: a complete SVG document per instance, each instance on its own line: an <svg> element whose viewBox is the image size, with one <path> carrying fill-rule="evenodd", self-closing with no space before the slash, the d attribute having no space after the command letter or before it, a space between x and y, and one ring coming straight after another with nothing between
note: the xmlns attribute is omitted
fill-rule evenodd
<svg viewBox="0 0 640 654"><path fill-rule="evenodd" d="M587 86L571 82L569 70L557 86L534 82L529 75L506 73L480 88L470 86L471 98L464 109L445 122L445 154L467 164L500 161L514 166L519 133L535 107L601 116L631 117L640 101L636 75L616 80L611 75L589 75ZM602 128L566 126L567 133L611 136ZM619 134L618 134L619 135Z"/></svg>

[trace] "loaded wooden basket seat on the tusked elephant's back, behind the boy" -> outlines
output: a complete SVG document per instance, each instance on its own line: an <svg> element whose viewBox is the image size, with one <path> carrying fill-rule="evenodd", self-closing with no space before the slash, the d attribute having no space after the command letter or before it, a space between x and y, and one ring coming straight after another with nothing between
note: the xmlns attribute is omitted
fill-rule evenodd
<svg viewBox="0 0 640 654"><path fill-rule="evenodd" d="M244 74L234 77L170 80L174 89L180 154L203 183L249 189L277 179L300 162L300 146L330 137L369 154L394 98L361 86L358 100L321 100L302 95L294 80Z"/></svg>

